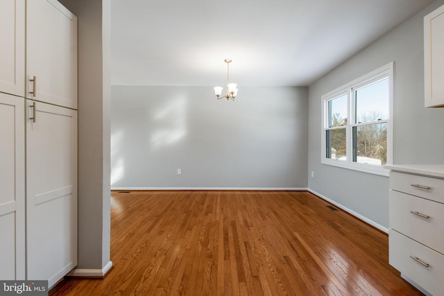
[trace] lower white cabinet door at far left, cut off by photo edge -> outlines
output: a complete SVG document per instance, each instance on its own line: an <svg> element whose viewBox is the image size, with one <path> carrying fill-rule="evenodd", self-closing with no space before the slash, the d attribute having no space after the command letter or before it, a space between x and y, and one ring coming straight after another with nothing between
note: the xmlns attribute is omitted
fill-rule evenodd
<svg viewBox="0 0 444 296"><path fill-rule="evenodd" d="M0 279L25 279L24 99L0 93Z"/></svg>

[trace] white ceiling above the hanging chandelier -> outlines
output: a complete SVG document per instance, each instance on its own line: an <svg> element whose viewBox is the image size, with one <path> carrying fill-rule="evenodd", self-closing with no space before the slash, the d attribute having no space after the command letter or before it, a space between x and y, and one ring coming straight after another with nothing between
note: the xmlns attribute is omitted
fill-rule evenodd
<svg viewBox="0 0 444 296"><path fill-rule="evenodd" d="M307 86L434 0L112 0L112 85Z"/></svg>

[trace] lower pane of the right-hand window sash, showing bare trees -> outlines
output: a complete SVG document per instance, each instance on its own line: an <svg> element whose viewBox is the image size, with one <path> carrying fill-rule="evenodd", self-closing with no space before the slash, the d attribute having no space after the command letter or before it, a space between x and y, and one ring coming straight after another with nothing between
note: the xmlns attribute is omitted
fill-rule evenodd
<svg viewBox="0 0 444 296"><path fill-rule="evenodd" d="M387 123L353 128L353 162L379 166L387 163Z"/></svg>

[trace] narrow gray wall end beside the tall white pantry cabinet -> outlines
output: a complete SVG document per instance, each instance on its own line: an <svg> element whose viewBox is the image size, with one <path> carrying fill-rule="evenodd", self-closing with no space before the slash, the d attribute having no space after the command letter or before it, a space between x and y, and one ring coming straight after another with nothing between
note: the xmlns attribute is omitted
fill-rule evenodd
<svg viewBox="0 0 444 296"><path fill-rule="evenodd" d="M78 268L110 261L110 0L59 0L78 17Z"/></svg>

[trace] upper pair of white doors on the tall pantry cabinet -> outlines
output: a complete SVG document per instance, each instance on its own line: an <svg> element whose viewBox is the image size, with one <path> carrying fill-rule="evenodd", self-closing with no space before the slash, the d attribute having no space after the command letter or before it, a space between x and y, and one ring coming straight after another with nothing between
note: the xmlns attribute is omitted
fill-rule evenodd
<svg viewBox="0 0 444 296"><path fill-rule="evenodd" d="M0 92L77 109L77 18L56 0L1 0L0 19Z"/></svg>

